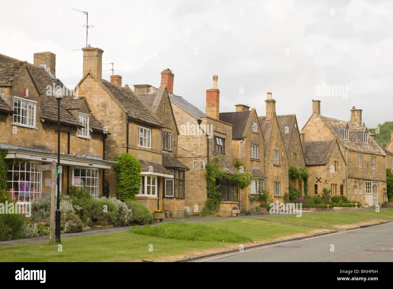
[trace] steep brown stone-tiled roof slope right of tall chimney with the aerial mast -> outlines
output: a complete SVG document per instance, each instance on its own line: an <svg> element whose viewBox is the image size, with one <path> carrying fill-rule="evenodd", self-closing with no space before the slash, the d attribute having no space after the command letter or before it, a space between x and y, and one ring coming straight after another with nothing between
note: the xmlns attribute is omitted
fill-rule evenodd
<svg viewBox="0 0 393 289"><path fill-rule="evenodd" d="M134 94L130 88L119 87L105 79L100 79L110 93L119 101L121 105L127 110L129 118L149 123L156 126L161 126L160 121L154 118L152 112L143 105L143 102Z"/></svg>

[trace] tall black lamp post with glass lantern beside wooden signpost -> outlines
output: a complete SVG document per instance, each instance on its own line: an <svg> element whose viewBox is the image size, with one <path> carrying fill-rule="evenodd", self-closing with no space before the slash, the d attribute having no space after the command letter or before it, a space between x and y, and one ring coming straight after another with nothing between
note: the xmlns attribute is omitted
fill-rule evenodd
<svg viewBox="0 0 393 289"><path fill-rule="evenodd" d="M56 82L55 98L57 99L57 209L55 216L56 243L60 243L60 101L63 98L63 86L59 79Z"/></svg>

